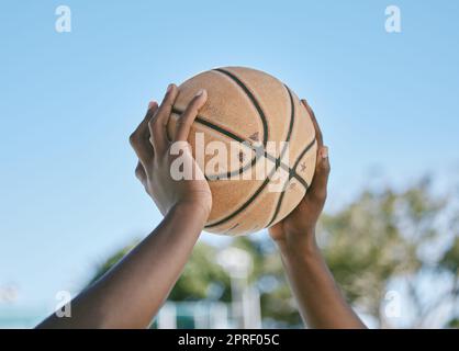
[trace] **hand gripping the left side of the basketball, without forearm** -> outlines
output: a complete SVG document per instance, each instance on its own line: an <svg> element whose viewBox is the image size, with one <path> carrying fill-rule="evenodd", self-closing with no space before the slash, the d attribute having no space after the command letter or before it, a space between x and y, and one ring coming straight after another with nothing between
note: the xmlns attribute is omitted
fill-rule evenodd
<svg viewBox="0 0 459 351"><path fill-rule="evenodd" d="M131 135L131 145L138 157L135 174L163 215L176 205L186 204L191 205L191 208L201 208L206 219L212 208L212 193L192 157L187 139L191 124L205 104L208 93L205 90L197 92L177 122L173 140L169 140L167 124L177 94L178 88L170 84L161 104L158 106L156 102L150 102L145 118ZM172 146L181 150L180 155L172 155ZM191 179L172 178L171 166L178 157L182 158L184 167L192 169Z"/></svg>

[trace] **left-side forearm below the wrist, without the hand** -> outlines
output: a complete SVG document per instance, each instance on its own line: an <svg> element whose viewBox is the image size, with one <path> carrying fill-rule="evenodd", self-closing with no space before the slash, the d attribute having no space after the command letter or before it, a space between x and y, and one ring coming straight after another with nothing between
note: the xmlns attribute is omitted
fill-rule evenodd
<svg viewBox="0 0 459 351"><path fill-rule="evenodd" d="M145 328L180 275L206 216L176 206L120 263L71 303L71 317L43 328Z"/></svg>

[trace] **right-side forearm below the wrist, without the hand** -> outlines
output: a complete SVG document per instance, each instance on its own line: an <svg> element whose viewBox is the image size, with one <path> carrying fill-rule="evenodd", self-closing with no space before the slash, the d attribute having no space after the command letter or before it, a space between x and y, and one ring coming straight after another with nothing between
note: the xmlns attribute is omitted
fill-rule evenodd
<svg viewBox="0 0 459 351"><path fill-rule="evenodd" d="M309 327L365 328L346 303L314 239L302 245L280 241L278 246L300 314Z"/></svg>

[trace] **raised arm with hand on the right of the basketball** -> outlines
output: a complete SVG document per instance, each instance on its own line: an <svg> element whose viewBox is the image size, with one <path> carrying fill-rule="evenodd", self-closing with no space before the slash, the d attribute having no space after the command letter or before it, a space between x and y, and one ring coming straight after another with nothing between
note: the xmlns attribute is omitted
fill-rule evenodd
<svg viewBox="0 0 459 351"><path fill-rule="evenodd" d="M281 253L290 286L304 322L311 328L366 328L346 303L315 240L329 174L328 149L314 112L305 100L316 133L317 162L313 182L298 207L269 228Z"/></svg>

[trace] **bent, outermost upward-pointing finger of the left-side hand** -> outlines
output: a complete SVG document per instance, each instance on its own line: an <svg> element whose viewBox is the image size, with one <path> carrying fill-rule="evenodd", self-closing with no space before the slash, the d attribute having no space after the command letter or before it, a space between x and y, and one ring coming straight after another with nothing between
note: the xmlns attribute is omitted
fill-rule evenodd
<svg viewBox="0 0 459 351"><path fill-rule="evenodd" d="M138 160L144 166L154 157L154 150L152 144L149 143L148 121L155 114L157 109L158 104L155 101L152 101L148 104L148 111L144 120L141 122L141 124L137 126L134 133L130 136L131 146L137 155Z"/></svg>

